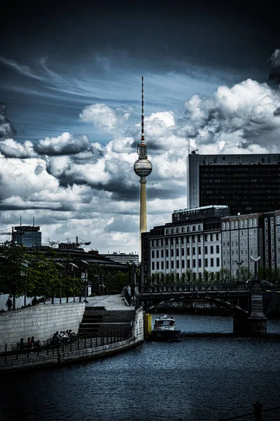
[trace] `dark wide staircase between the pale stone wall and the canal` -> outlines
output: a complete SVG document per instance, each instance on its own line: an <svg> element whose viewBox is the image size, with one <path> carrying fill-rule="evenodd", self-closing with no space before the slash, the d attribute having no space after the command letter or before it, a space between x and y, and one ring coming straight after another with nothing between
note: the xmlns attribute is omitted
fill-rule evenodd
<svg viewBox="0 0 280 421"><path fill-rule="evenodd" d="M85 307L78 333L80 335L99 335L128 330L132 323L133 314L133 310L106 310L105 307Z"/></svg>

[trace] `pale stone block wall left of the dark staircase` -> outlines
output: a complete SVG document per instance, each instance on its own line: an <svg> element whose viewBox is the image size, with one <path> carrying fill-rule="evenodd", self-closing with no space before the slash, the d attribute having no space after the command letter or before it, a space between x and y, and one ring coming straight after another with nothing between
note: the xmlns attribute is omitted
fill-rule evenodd
<svg viewBox="0 0 280 421"><path fill-rule="evenodd" d="M56 330L78 331L85 312L84 302L67 304L35 305L0 314L0 347L16 345L20 338L30 336L47 340Z"/></svg>

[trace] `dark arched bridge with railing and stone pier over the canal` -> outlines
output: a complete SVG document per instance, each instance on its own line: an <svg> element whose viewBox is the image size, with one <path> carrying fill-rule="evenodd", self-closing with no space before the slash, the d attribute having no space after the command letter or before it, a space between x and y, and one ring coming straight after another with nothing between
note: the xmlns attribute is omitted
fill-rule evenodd
<svg viewBox="0 0 280 421"><path fill-rule="evenodd" d="M244 335L266 335L267 318L263 312L260 280L250 284L153 284L135 290L137 300L148 311L166 302L206 300L233 311L233 332ZM276 291L275 291L276 293ZM132 296L134 288L132 286ZM276 294L278 296L278 293ZM280 296L279 296L280 301Z"/></svg>

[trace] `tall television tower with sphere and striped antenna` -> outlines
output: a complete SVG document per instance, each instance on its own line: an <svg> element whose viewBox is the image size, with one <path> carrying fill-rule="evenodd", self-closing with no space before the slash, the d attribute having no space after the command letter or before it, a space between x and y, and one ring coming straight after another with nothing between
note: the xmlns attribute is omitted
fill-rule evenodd
<svg viewBox="0 0 280 421"><path fill-rule="evenodd" d="M144 76L142 76L142 114L141 114L141 143L137 146L139 158L134 163L134 173L140 177L140 229L139 229L139 260L141 261L141 234L147 232L146 206L146 177L151 174L153 166L148 160L148 147L145 145L144 134Z"/></svg>

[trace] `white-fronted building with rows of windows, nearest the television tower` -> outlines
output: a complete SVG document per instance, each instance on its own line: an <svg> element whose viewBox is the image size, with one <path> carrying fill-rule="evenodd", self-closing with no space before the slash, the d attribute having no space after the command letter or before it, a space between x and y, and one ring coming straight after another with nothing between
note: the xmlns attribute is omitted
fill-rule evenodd
<svg viewBox="0 0 280 421"><path fill-rule="evenodd" d="M221 269L221 216L228 206L175 210L172 222L142 236L142 282L151 275L191 272L202 279L204 270Z"/></svg>

